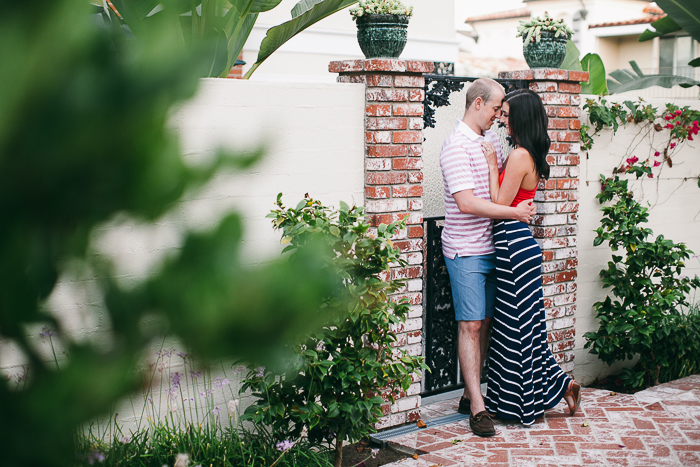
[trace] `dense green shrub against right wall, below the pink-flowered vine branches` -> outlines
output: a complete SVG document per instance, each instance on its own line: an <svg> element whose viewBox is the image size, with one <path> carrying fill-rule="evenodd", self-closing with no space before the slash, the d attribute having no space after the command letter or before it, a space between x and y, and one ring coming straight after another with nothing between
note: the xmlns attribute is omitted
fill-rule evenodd
<svg viewBox="0 0 700 467"><path fill-rule="evenodd" d="M624 170L637 178L651 175L648 165L636 162L628 159ZM601 175L600 181L602 190L596 198L613 204L601 209L602 225L594 245L607 241L613 251L607 269L600 271L603 287L611 288L612 297L593 305L600 327L584 334L585 348L609 365L638 355L634 368L622 375L632 387L697 371L700 319L697 311L687 315L681 311L689 307L691 289L700 287L697 276L681 275L692 251L663 235L648 240L653 232L640 227L647 222L648 209L634 199L628 181L619 175L608 179Z"/></svg>

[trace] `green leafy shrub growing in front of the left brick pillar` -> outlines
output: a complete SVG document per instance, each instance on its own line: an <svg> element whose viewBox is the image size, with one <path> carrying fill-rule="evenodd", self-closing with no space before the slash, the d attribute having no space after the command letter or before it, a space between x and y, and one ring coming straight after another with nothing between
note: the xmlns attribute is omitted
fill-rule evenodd
<svg viewBox="0 0 700 467"><path fill-rule="evenodd" d="M282 230L285 250L321 234L336 254L329 268L343 277L344 290L321 309L327 325L302 341L286 374L265 369L248 374L244 388L257 401L243 418L270 426L279 439L296 438L304 428L312 441L335 439L339 467L343 441L373 432L385 398L393 402L408 389L411 375L427 368L422 357L392 347L394 326L405 320L408 305L389 297L402 282L381 275L388 276L392 263L406 264L391 241L404 225L382 224L374 234L361 207L341 202L340 210L332 211L307 195L295 209L285 209L281 196L279 209L268 217Z"/></svg>

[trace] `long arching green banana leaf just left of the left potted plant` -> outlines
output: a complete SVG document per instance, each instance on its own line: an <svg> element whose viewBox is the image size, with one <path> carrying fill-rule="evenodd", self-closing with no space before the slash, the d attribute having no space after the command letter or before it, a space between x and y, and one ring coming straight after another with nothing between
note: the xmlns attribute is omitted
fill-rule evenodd
<svg viewBox="0 0 700 467"><path fill-rule="evenodd" d="M296 10L297 13L301 12L304 8L311 6L305 12L299 14L279 26L268 29L265 38L260 44L260 52L258 52L258 59L253 64L253 66L245 74L244 78L248 79L253 74L253 72L264 62L267 57L272 55L272 53L279 49L285 42L287 42L292 37L299 34L304 29L309 26L321 21L322 19L336 13L350 5L357 3L357 0L325 0L320 3L313 4L313 0L302 0L295 6L293 12ZM312 5L313 4L313 5Z"/></svg>

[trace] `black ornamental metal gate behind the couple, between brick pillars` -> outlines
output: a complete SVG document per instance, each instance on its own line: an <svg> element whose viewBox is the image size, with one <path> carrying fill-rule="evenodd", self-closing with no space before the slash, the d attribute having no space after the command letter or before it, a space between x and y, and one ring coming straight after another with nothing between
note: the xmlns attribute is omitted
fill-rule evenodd
<svg viewBox="0 0 700 467"><path fill-rule="evenodd" d="M435 107L449 105L449 95L477 78L444 75L425 76L423 120L426 127L435 127ZM506 93L527 88L525 80L496 80ZM447 266L442 255L441 234L444 217L423 219L423 349L425 363L431 371L423 375L422 396L430 396L464 387L457 357L458 324L454 319L452 290ZM486 369L482 372L482 380Z"/></svg>

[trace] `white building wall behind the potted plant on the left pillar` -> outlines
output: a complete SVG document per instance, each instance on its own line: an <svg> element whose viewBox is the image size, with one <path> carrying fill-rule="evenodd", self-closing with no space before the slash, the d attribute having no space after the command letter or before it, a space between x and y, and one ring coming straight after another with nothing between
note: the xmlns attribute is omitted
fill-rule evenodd
<svg viewBox="0 0 700 467"><path fill-rule="evenodd" d="M282 2L261 13L243 49L247 71L255 63L267 30L291 17L299 0ZM408 25L408 42L401 54L404 60L456 62L454 0L406 0L413 6ZM253 74L259 81L335 82L328 73L332 60L364 58L357 44L357 27L348 9L335 13L301 32L270 56Z"/></svg>

